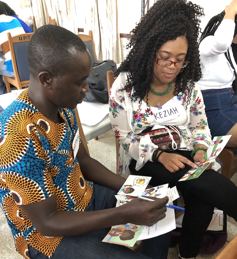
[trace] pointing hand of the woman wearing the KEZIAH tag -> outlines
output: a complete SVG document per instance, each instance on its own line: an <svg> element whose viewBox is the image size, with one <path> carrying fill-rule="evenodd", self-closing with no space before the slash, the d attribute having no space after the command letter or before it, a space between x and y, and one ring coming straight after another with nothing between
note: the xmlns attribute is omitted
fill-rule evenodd
<svg viewBox="0 0 237 259"><path fill-rule="evenodd" d="M164 167L172 173L180 170L180 168L184 168L185 164L188 164L191 167L197 168L197 165L191 162L190 160L188 160L186 157L181 156L179 154L173 154L173 153L163 152L159 156L158 162L163 164Z"/></svg>

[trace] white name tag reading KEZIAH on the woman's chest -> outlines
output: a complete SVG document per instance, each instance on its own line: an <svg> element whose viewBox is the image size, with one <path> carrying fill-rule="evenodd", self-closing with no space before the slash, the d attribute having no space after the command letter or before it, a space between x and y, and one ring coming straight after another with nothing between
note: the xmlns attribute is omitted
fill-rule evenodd
<svg viewBox="0 0 237 259"><path fill-rule="evenodd" d="M161 123L163 121L170 121L179 116L179 103L173 105L163 105L161 108L153 110L155 121Z"/></svg>

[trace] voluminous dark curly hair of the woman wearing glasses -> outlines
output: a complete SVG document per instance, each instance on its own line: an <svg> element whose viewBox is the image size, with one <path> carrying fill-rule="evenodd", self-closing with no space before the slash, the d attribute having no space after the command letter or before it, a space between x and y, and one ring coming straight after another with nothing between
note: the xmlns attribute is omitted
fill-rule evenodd
<svg viewBox="0 0 237 259"><path fill-rule="evenodd" d="M201 78L199 64L198 34L200 31L198 17L204 15L203 8L186 0L158 0L141 19L140 23L131 31L132 38L126 48L132 48L124 62L121 63L115 76L121 72L129 72L125 88L135 91L135 100L144 96L150 90L153 79L156 52L166 41L175 40L179 36L186 36L188 52L185 61L190 64L176 77L174 94L193 89L194 81ZM189 91L188 102L190 102Z"/></svg>

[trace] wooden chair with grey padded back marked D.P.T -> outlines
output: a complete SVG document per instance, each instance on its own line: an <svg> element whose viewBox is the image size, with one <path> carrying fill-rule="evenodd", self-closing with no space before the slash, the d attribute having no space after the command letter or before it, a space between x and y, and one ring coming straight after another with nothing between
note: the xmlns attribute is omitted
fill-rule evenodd
<svg viewBox="0 0 237 259"><path fill-rule="evenodd" d="M8 93L11 92L10 84L13 84L17 89L29 86L30 71L28 68L27 48L32 35L33 33L23 33L12 37L10 32L7 33L15 75L15 78L4 76Z"/></svg>

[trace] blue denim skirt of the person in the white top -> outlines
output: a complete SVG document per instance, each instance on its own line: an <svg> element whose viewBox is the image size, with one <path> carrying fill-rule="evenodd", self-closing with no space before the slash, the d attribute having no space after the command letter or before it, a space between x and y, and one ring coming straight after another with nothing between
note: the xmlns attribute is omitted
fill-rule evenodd
<svg viewBox="0 0 237 259"><path fill-rule="evenodd" d="M237 122L237 97L232 88L202 90L212 136L226 135Z"/></svg>

